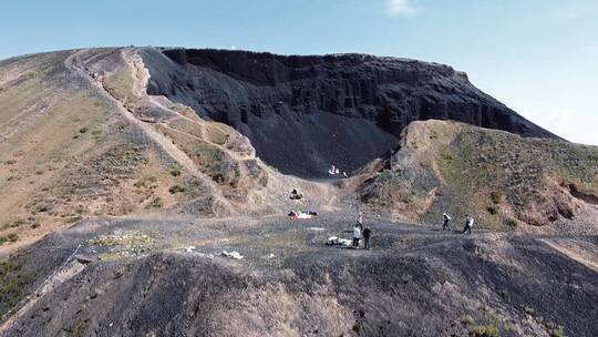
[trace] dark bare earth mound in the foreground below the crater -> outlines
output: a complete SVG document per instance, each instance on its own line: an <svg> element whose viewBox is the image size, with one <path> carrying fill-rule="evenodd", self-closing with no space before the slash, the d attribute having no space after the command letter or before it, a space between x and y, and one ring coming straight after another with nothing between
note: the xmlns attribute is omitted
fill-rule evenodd
<svg viewBox="0 0 598 337"><path fill-rule="evenodd" d="M306 222L85 221L14 257L22 273L37 273L30 289L62 272L2 333L592 336L598 329L588 319L598 315L596 236L470 236L367 219L373 251L324 245L331 235L350 237L352 223L338 213Z"/></svg>

